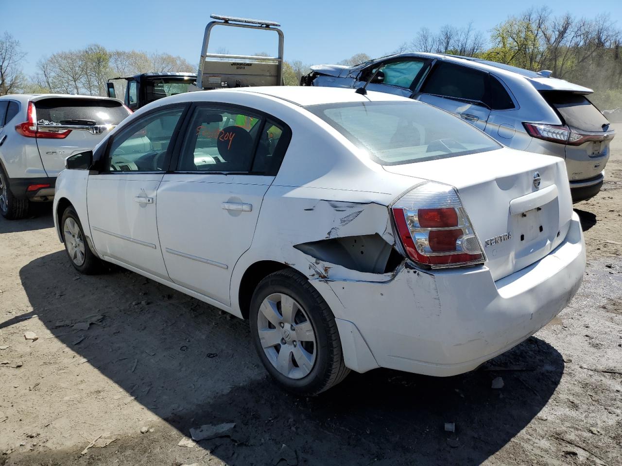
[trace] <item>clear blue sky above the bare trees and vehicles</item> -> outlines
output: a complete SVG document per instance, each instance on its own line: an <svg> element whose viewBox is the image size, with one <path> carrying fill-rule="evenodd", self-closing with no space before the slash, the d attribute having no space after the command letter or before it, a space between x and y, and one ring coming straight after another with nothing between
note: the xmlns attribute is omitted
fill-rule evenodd
<svg viewBox="0 0 622 466"><path fill-rule="evenodd" d="M547 4L554 14L594 17L605 13L622 29L621 0L549 0ZM34 73L42 56L90 43L109 49L172 53L194 65L200 56L205 25L210 14L216 13L281 22L285 59L317 64L335 63L358 52L372 57L384 55L411 40L423 26L437 30L443 24L461 27L472 21L475 29L488 37L491 27L528 7L525 2L498 0L30 0L24 4L0 0L0 33L7 30L21 42L28 53L24 63L27 74ZM221 28L214 30L214 38L215 47L226 47L231 53L276 52L276 36L272 34L225 34Z"/></svg>

